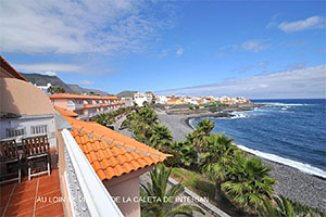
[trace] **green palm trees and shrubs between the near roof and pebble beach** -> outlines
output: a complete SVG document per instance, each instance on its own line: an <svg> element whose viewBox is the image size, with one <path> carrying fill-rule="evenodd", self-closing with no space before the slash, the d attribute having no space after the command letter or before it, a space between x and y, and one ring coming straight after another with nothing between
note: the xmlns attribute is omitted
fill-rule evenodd
<svg viewBox="0 0 326 217"><path fill-rule="evenodd" d="M294 216L324 216L317 209L277 196L274 178L267 174L271 168L261 159L249 157L224 133L212 133L213 122L198 123L196 130L179 142L173 142L171 131L158 123L156 114L149 106L135 108L125 124L137 140L173 155L164 162L165 166L174 167L173 177L184 178L186 187L201 196L210 196L218 206L231 203L250 216L283 217L293 216L292 213Z"/></svg>

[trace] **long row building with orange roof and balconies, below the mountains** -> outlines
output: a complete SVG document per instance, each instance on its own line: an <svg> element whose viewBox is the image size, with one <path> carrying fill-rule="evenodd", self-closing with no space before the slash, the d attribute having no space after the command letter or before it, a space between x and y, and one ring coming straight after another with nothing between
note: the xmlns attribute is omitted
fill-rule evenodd
<svg viewBox="0 0 326 217"><path fill-rule="evenodd" d="M58 93L49 95L53 105L78 114L78 119L90 120L91 117L117 110L125 104L116 97L80 95Z"/></svg>

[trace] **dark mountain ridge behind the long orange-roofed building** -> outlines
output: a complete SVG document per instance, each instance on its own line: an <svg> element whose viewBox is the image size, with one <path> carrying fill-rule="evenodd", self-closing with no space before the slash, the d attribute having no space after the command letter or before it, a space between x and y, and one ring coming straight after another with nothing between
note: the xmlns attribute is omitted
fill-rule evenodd
<svg viewBox="0 0 326 217"><path fill-rule="evenodd" d="M65 89L65 92L67 92L67 93L83 94L83 93L89 93L89 92L98 92L101 95L109 94L105 91L82 88L78 85L65 84L57 76L49 76L49 75L41 75L41 74L26 74L26 73L21 73L21 74L29 82L36 84L37 86L47 86L47 84L51 84L53 87L55 87L55 86L63 87Z"/></svg>

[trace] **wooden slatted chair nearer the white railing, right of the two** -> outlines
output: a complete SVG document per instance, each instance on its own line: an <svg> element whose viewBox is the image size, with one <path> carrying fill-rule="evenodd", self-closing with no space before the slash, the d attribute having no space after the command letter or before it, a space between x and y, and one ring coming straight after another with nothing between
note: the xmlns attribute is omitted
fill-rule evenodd
<svg viewBox="0 0 326 217"><path fill-rule="evenodd" d="M38 176L41 174L51 174L51 155L50 155L50 144L48 141L47 136L39 136L39 137L29 137L23 138L23 150L24 150L24 157L26 157L27 166L28 166L28 180L30 177ZM38 167L37 164L43 164L41 167ZM42 169L46 168L47 170L41 170L35 174L32 174L32 169Z"/></svg>

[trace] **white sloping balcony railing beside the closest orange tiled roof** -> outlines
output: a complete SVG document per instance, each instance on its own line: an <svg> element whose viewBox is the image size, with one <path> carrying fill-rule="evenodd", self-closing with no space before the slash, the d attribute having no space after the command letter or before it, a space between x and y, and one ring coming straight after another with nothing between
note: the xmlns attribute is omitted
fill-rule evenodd
<svg viewBox="0 0 326 217"><path fill-rule="evenodd" d="M61 133L65 144L65 180L73 216L122 217L71 132L63 129Z"/></svg>

